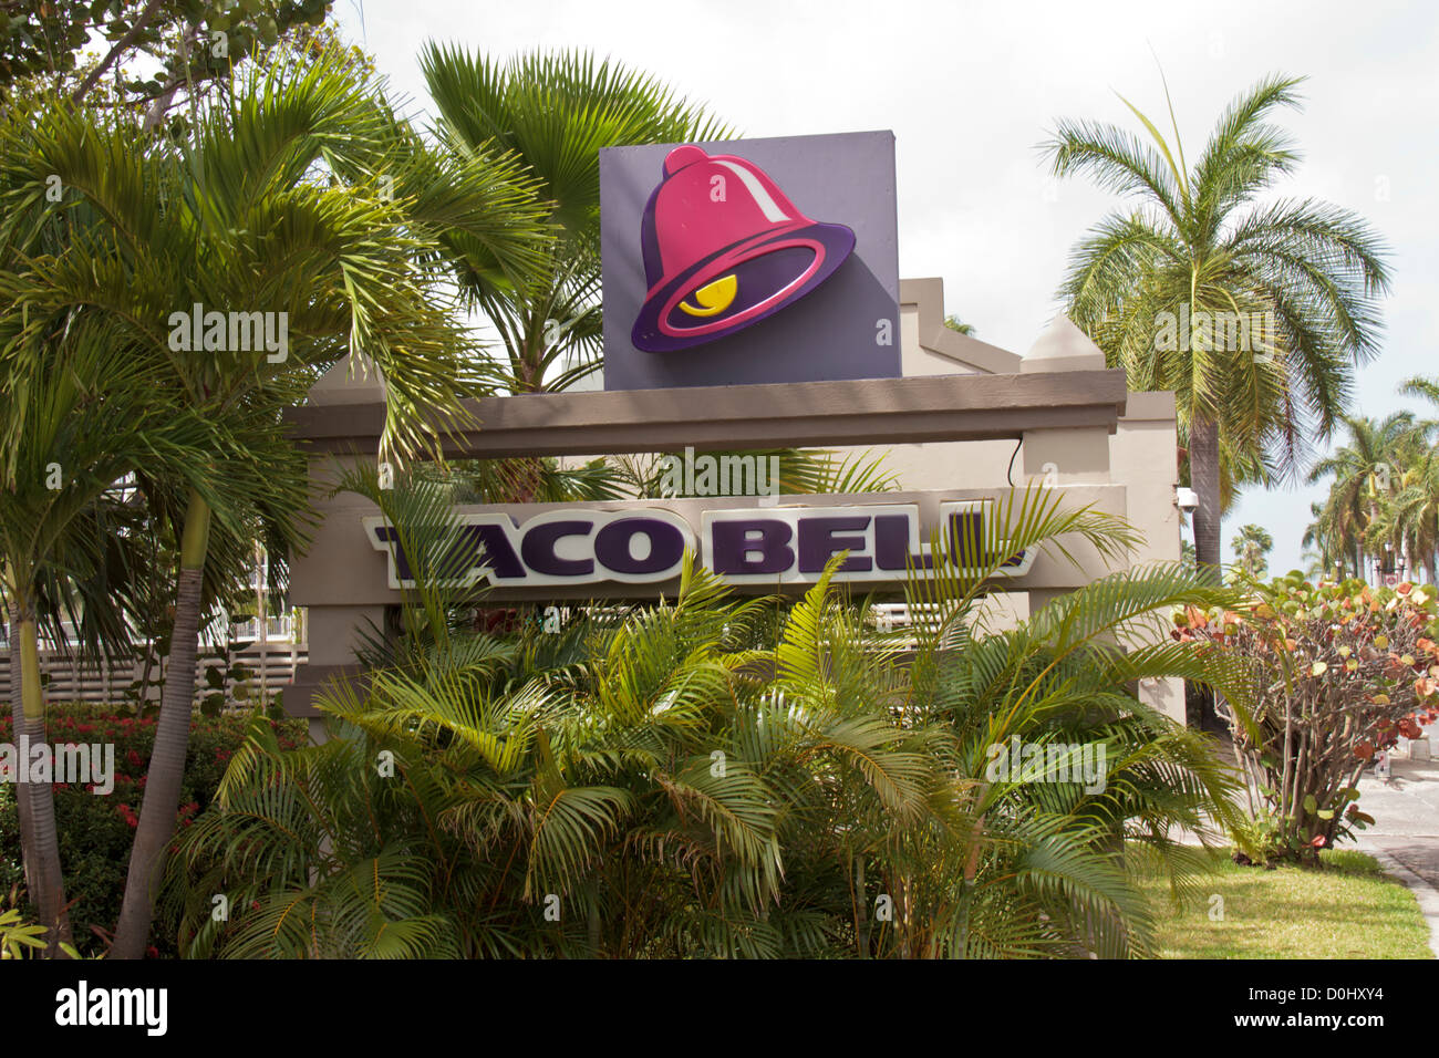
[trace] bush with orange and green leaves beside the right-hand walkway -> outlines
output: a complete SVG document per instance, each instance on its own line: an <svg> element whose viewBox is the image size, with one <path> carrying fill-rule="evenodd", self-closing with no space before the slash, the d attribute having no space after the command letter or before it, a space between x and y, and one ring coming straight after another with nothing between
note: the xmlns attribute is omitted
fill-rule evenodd
<svg viewBox="0 0 1439 1058"><path fill-rule="evenodd" d="M1291 573L1250 589L1242 613L1176 612L1173 635L1248 662L1253 711L1220 710L1256 822L1236 835L1240 851L1317 859L1374 822L1356 803L1374 753L1439 720L1439 607L1432 587L1409 583L1312 584Z"/></svg>

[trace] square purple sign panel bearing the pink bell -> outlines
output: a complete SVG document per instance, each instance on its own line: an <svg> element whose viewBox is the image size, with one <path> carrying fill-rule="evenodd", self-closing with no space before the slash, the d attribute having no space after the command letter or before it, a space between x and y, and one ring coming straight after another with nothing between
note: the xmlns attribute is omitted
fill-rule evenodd
<svg viewBox="0 0 1439 1058"><path fill-rule="evenodd" d="M600 151L604 387L894 379L892 132Z"/></svg>

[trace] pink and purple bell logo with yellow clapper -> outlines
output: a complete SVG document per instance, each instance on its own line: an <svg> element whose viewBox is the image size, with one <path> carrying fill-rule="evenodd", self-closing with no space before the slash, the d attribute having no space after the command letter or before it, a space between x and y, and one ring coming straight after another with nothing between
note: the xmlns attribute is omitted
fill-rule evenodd
<svg viewBox="0 0 1439 1058"><path fill-rule="evenodd" d="M855 233L800 213L751 161L676 147L640 223L648 294L630 340L671 353L764 320L825 282Z"/></svg>

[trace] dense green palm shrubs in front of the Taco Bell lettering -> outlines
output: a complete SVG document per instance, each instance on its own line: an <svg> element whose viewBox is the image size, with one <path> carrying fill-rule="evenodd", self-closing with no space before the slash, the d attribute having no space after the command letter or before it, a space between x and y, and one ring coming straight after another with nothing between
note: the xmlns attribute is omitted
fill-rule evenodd
<svg viewBox="0 0 1439 1058"><path fill-rule="evenodd" d="M165 905L187 957L1144 954L1117 852L1193 887L1170 835L1216 839L1238 780L1127 689L1196 651L1088 642L1206 593L1125 573L915 662L827 583L735 649L770 605L705 570L617 626L456 635L322 697L319 746L260 727ZM1092 749L1102 782L990 776L1013 740Z"/></svg>

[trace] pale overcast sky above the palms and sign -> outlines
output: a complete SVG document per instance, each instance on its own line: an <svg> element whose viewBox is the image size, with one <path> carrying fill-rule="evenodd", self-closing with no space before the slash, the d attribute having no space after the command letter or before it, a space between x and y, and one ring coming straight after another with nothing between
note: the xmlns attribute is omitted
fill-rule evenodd
<svg viewBox="0 0 1439 1058"><path fill-rule="evenodd" d="M750 137L889 128L896 138L899 275L943 276L945 309L1023 353L1053 317L1071 245L1115 206L1050 184L1036 144L1056 117L1156 119L1156 58L1193 158L1222 107L1271 71L1308 75L1285 112L1304 164L1285 194L1364 214L1392 246L1386 351L1357 409L1403 402L1439 374L1439 7L1415 3L789 3L786 0L337 0L335 14L394 89L427 112L427 39L509 56L583 48L707 102ZM1167 125L1164 125L1167 132ZM1301 566L1322 488L1253 491L1225 521L1274 534L1271 566Z"/></svg>

